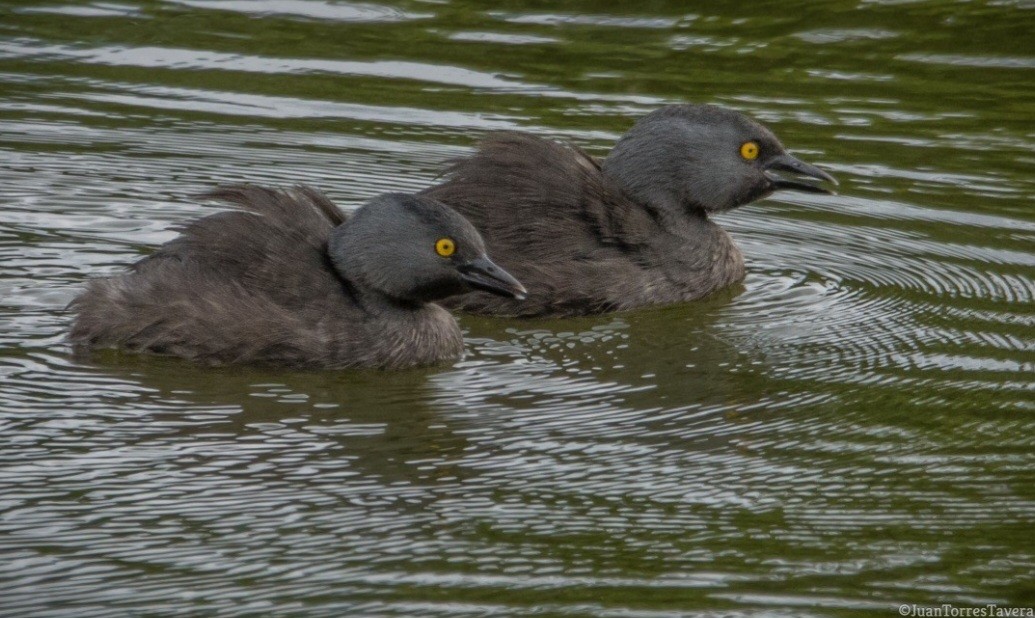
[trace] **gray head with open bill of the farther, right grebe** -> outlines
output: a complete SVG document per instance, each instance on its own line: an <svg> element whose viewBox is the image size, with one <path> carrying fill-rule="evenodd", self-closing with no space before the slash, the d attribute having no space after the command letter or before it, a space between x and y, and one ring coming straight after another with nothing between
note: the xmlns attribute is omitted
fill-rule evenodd
<svg viewBox="0 0 1035 618"><path fill-rule="evenodd" d="M836 184L788 154L765 126L715 106L669 106L648 114L615 145L603 171L643 204L690 212L729 210L780 188L832 193L775 171Z"/></svg>

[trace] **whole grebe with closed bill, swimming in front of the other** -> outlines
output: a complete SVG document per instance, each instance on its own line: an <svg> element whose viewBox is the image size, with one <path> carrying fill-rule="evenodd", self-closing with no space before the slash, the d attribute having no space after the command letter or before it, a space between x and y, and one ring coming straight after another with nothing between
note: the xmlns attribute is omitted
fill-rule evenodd
<svg viewBox="0 0 1035 618"><path fill-rule="evenodd" d="M471 289L522 297L469 222L426 197L388 194L348 217L320 192L225 186L236 206L195 220L69 307L79 347L209 364L400 369L457 358L435 301Z"/></svg>

